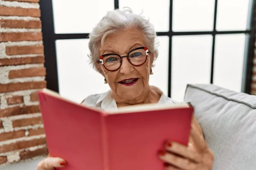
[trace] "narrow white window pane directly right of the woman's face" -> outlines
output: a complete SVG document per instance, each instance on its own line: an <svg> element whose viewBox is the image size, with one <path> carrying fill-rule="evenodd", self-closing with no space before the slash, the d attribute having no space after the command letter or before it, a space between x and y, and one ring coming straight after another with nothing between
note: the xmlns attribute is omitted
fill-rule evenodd
<svg viewBox="0 0 256 170"><path fill-rule="evenodd" d="M168 95L168 66L169 66L169 36L158 36L158 58L152 68L153 75L149 77L149 85L160 88Z"/></svg>

